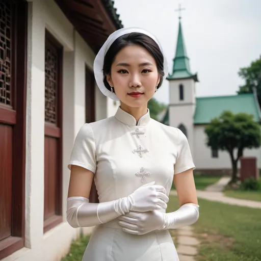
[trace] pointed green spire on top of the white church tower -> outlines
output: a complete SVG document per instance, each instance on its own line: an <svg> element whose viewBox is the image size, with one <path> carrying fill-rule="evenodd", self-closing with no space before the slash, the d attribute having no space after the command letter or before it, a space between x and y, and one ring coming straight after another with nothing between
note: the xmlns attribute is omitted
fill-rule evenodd
<svg viewBox="0 0 261 261"><path fill-rule="evenodd" d="M181 11L181 9L179 9L179 11ZM197 74L191 73L190 70L189 58L182 34L181 16L179 16L177 46L175 58L173 59L173 69L172 73L168 75L167 79L194 79L195 82L198 82Z"/></svg>

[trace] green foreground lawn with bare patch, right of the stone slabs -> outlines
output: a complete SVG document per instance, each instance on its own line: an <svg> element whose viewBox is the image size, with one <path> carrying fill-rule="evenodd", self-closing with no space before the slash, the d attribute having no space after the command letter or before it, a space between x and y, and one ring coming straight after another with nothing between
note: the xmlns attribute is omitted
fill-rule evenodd
<svg viewBox="0 0 261 261"><path fill-rule="evenodd" d="M197 261L261 261L261 210L199 199ZM170 196L167 212L178 208Z"/></svg>

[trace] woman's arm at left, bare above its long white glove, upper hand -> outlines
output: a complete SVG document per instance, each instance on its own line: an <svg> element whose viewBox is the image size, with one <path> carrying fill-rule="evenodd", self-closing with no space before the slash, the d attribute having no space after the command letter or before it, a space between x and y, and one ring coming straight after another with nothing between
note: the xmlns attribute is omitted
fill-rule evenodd
<svg viewBox="0 0 261 261"><path fill-rule="evenodd" d="M67 198L67 221L72 227L90 227L107 223L129 211L146 212L166 208L168 197L162 186L146 184L131 195L117 200L89 203L93 172L71 166Z"/></svg>

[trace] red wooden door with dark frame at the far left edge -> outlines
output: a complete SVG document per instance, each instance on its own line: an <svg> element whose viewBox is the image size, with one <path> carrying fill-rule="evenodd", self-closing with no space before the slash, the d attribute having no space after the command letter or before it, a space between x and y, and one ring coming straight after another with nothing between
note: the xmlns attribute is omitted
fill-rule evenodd
<svg viewBox="0 0 261 261"><path fill-rule="evenodd" d="M2 259L21 248L24 242L26 1L0 1L0 36L0 259Z"/></svg>

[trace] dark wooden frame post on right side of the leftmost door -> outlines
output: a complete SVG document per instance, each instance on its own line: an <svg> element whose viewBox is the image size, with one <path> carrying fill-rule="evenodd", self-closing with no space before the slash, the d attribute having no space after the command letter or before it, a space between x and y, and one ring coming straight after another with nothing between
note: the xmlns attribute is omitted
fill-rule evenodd
<svg viewBox="0 0 261 261"><path fill-rule="evenodd" d="M18 11L19 10L19 11ZM12 234L24 237L25 209L25 137L27 100L27 20L28 5L19 1L17 5L17 46L16 46L16 124L14 126L14 166L13 166L13 208ZM19 44L18 44L19 43ZM19 98L18 98L19 97Z"/></svg>

